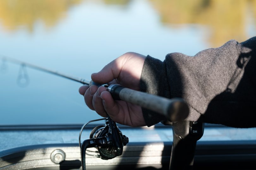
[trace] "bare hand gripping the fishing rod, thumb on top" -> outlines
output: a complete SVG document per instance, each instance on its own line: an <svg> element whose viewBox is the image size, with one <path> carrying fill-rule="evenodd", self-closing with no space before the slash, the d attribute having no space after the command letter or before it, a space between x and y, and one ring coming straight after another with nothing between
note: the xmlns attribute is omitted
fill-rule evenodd
<svg viewBox="0 0 256 170"><path fill-rule="evenodd" d="M145 56L137 53L125 53L106 65L100 72L91 75L97 83L120 84L123 87L139 90L140 76ZM86 105L99 115L117 123L137 127L146 126L142 109L125 101L114 101L105 87L82 86L79 93L84 95Z"/></svg>

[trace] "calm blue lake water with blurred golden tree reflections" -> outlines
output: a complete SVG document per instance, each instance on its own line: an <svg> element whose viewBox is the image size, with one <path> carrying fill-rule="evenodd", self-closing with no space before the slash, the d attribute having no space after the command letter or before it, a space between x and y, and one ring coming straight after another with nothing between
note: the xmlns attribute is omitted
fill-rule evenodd
<svg viewBox="0 0 256 170"><path fill-rule="evenodd" d="M1 0L0 54L90 79L128 51L163 60L256 35L256 1ZM81 84L0 60L0 125L74 124L100 118Z"/></svg>

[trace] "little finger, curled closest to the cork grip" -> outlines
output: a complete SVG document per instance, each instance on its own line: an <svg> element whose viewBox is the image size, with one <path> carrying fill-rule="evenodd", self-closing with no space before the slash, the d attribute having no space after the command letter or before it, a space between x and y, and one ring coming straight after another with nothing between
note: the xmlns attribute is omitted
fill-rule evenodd
<svg viewBox="0 0 256 170"><path fill-rule="evenodd" d="M101 99L107 114L113 119L113 121L120 122L118 116L120 109L118 104L113 100L111 94L107 91L104 91L101 93Z"/></svg>

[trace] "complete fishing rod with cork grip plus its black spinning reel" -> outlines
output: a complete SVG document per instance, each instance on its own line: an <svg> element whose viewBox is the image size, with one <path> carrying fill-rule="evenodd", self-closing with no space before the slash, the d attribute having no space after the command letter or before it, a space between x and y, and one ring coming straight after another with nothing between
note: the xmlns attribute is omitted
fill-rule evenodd
<svg viewBox="0 0 256 170"><path fill-rule="evenodd" d="M3 60L9 62L21 64L23 66L30 67L39 71L51 73L56 76L61 76L76 82L80 82L85 85L104 86L107 91L111 93L114 100L123 100L135 105L139 105L143 108L155 111L161 115L164 115L169 122L178 122L184 120L189 114L189 108L181 98L167 99L160 96L155 96L149 93L144 93L129 88L122 87L119 84L98 84L93 81L87 81L85 79L69 76L58 71L52 71L37 65L33 65L18 59L10 57L2 57ZM91 134L90 139L84 140L81 144L81 134L83 128L90 122L105 120L105 126L95 127ZM122 134L119 127L116 125L109 115L107 118L92 120L85 123L79 134L79 146L81 148L81 160L82 169L85 170L85 155L100 157L101 159L112 159L116 156L120 156L123 153L123 147L129 142L128 137ZM97 148L100 155L91 155L86 153L87 148ZM56 163L56 162L55 162Z"/></svg>

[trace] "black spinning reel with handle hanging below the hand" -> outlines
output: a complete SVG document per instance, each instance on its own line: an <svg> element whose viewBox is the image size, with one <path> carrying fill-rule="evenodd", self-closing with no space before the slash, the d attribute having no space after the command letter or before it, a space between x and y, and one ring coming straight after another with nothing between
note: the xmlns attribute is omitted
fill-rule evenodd
<svg viewBox="0 0 256 170"><path fill-rule="evenodd" d="M105 126L97 126L90 133L90 139L84 140L81 145L81 134L83 128L90 122L105 120ZM128 137L122 134L116 122L108 115L107 118L97 119L85 123L79 134L79 146L82 155L82 169L85 170L85 155L96 156L98 158L108 160L123 153L123 147L129 142ZM91 155L86 153L87 148L95 147L100 155Z"/></svg>

